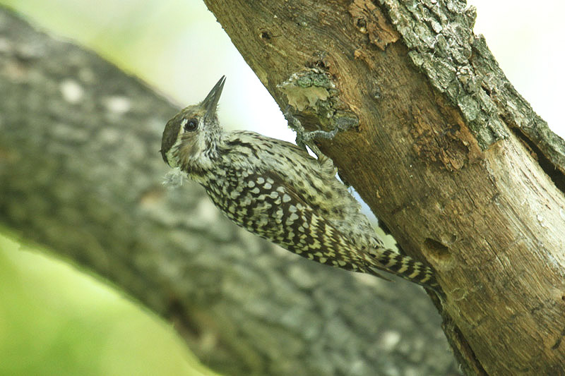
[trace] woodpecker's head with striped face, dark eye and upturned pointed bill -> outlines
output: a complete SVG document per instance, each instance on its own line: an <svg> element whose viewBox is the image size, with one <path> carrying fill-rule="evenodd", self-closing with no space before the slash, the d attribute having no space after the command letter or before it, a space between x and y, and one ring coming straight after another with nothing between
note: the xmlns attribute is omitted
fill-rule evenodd
<svg viewBox="0 0 565 376"><path fill-rule="evenodd" d="M222 133L216 109L224 83L225 75L202 102L186 107L167 122L160 152L169 166L190 172L212 163Z"/></svg>

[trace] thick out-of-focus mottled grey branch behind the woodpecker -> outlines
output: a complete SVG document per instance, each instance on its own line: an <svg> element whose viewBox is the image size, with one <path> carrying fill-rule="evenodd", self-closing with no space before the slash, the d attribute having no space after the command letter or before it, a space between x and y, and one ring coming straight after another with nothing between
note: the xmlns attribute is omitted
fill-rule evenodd
<svg viewBox="0 0 565 376"><path fill-rule="evenodd" d="M233 226L199 186L163 188L178 108L136 78L2 11L0 95L1 224L173 322L210 367L456 374L419 287L303 260Z"/></svg>

